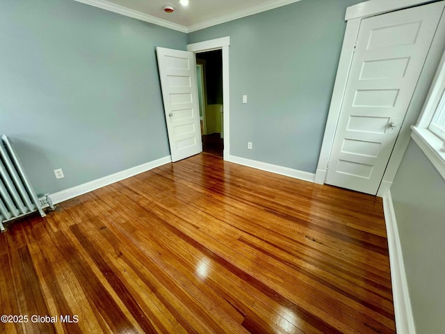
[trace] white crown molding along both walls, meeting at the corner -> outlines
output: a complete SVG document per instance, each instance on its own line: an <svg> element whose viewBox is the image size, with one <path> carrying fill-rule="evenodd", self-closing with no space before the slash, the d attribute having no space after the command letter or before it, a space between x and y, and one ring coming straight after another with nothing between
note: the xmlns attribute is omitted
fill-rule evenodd
<svg viewBox="0 0 445 334"><path fill-rule="evenodd" d="M133 17L133 19L140 19L141 21L156 24L158 26L163 26L168 29L180 31L181 33L192 33L193 31L198 31L201 29L209 28L209 26L216 26L217 24L222 24L222 23L226 23L229 21L233 21L234 19L241 19L242 17L246 17L246 16L258 14L261 12L265 12L266 10L271 10L274 8L286 6L286 5L289 5L290 3L298 2L301 0L272 0L272 1L268 1L266 3L263 3L261 5L258 5L258 6L254 6L254 7L243 9L243 10L238 10L235 13L216 17L215 19L209 19L207 21L193 24L191 26L181 26L180 24L168 22L165 19L159 19L158 17L154 17L152 15L148 15L148 14L139 12L138 10L129 9L124 6L120 6L115 3L108 2L106 0L74 0L74 1L86 3L87 5L94 6L97 8L102 8L104 10L109 10L113 13L118 13L120 15Z"/></svg>

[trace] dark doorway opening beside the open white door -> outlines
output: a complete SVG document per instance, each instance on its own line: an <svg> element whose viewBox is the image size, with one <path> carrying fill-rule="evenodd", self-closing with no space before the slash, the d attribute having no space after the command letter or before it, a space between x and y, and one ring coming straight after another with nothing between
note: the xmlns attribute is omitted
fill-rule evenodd
<svg viewBox="0 0 445 334"><path fill-rule="evenodd" d="M223 157L223 50L196 54L202 151Z"/></svg>

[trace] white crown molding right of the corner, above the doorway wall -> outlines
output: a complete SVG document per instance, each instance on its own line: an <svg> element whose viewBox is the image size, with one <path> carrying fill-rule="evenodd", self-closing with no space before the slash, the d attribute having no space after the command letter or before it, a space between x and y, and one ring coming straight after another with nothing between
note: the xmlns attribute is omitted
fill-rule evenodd
<svg viewBox="0 0 445 334"><path fill-rule="evenodd" d="M261 3L258 6L246 8L243 10L238 10L235 13L230 13L228 15L223 15L220 17L216 17L214 19L209 19L204 22L200 22L197 24L193 24L187 27L188 33L193 33L193 31L198 31L201 29L209 28L209 26L216 26L217 24L226 23L229 21L233 21L234 19L241 19L242 17L258 14L261 12L266 12L267 10L271 10L274 8L278 8L281 6L289 5L290 3L298 2L301 0L273 0L268 1L266 3Z"/></svg>

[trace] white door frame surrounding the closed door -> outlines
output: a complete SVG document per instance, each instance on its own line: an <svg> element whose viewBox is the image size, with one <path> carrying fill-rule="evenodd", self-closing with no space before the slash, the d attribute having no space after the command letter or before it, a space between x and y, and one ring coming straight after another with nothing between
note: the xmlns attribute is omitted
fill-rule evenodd
<svg viewBox="0 0 445 334"><path fill-rule="evenodd" d="M320 157L315 174L314 182L317 184L324 184L327 175L327 168L329 166L332 145L334 143L335 132L337 131L337 124L341 106L343 104L343 96L348 82L350 66L353 61L355 40L359 33L362 19L372 17L384 13L389 13L395 10L419 6L426 3L436 2L435 0L370 0L362 3L357 3L354 6L346 8L346 31L341 47L341 54L339 66L337 68L337 76L335 78L334 89L332 91L332 98L329 112L327 114L327 123L325 133L323 136L323 143L321 145ZM382 177L377 196L383 197L391 187L398 166L400 166L403 154L410 143L411 129L410 125L415 124L416 119L421 111L423 101L428 94L428 89L434 77L435 70L440 61L440 56L445 47L445 19L442 17L439 21L439 26L432 40L430 51L426 57L423 70L420 74L419 81L412 95L410 106L407 109L405 120L401 130L396 139L394 149L389 157L389 162L385 173Z"/></svg>

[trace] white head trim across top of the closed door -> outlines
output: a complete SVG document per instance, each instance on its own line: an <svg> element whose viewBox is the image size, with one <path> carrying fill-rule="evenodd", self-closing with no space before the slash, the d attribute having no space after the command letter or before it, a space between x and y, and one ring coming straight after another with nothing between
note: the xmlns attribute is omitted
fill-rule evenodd
<svg viewBox="0 0 445 334"><path fill-rule="evenodd" d="M370 17L393 12L414 6L423 5L435 0L370 0L346 8L345 20Z"/></svg>

